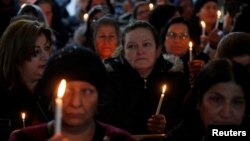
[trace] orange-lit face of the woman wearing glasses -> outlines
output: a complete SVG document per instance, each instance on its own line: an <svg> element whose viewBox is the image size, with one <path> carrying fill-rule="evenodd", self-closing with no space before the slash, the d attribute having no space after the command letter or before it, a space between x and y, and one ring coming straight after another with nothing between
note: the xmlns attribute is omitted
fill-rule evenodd
<svg viewBox="0 0 250 141"><path fill-rule="evenodd" d="M173 24L169 27L165 38L165 50L169 54L179 57L188 52L189 34L188 28L182 23Z"/></svg>

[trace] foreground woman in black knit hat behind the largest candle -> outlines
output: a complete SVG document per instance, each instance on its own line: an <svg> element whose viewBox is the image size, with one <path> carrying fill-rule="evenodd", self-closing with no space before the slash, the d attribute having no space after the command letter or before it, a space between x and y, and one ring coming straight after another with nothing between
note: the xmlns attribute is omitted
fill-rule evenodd
<svg viewBox="0 0 250 141"><path fill-rule="evenodd" d="M85 48L62 48L50 58L37 92L55 108L58 84L66 80L62 98L62 130L54 132L55 122L30 126L13 133L9 141L133 141L128 132L96 121L98 97L106 82L106 70L94 53Z"/></svg>

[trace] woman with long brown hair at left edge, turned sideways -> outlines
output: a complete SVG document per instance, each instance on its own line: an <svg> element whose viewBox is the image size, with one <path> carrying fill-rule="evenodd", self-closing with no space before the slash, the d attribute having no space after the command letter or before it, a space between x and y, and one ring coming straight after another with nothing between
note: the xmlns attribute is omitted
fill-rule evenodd
<svg viewBox="0 0 250 141"><path fill-rule="evenodd" d="M50 29L43 24L24 19L12 22L3 33L0 42L0 119L8 121L6 130L43 120L36 109L33 91L51 54L51 36ZM21 118L21 112L26 113L25 119ZM8 133L6 131L7 136Z"/></svg>

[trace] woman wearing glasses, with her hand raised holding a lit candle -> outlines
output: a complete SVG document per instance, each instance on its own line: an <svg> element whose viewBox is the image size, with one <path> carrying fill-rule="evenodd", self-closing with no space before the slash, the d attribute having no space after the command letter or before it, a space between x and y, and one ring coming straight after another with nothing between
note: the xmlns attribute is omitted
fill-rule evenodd
<svg viewBox="0 0 250 141"><path fill-rule="evenodd" d="M182 17L172 18L163 31L162 44L164 45L163 52L165 52L163 56L165 58L171 55L179 57L183 62L186 76L192 78L205 62L193 54L195 48L190 53L189 42L192 41L190 33L190 25L187 21Z"/></svg>

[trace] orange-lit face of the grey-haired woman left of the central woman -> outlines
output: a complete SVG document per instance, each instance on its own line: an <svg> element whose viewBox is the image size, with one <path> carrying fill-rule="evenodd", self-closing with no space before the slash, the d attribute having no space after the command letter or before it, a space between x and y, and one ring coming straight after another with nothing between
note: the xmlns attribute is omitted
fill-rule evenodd
<svg viewBox="0 0 250 141"><path fill-rule="evenodd" d="M95 39L97 54L102 59L111 57L118 45L118 35L115 27L111 25L99 27Z"/></svg>

